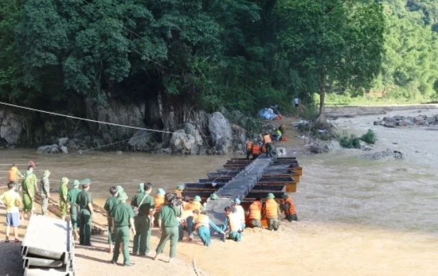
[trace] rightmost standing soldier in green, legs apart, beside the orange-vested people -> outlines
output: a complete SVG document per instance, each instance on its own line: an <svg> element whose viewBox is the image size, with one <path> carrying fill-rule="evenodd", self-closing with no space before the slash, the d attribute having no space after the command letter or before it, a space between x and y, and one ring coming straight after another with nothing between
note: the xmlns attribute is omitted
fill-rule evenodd
<svg viewBox="0 0 438 276"><path fill-rule="evenodd" d="M169 262L172 262L172 259L177 256L177 244L179 238L178 217L181 217L183 210L182 204L179 206L174 206L173 201L175 199L175 195L173 193L166 193L164 198L166 199L166 205L162 206L158 216L158 227L159 232L162 233L162 236L159 239L159 244L157 246L157 255L155 255L153 260L158 259L159 254L163 252L164 246L166 245L167 240L170 238Z"/></svg>

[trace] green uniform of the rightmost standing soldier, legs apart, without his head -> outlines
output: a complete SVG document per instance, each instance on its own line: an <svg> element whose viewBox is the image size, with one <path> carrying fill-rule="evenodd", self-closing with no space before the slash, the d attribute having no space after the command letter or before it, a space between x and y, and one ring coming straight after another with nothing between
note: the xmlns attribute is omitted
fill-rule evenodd
<svg viewBox="0 0 438 276"><path fill-rule="evenodd" d="M162 221L162 236L157 246L157 254L163 252L167 240L170 238L170 258L177 256L177 243L179 238L179 221L177 217L181 216L181 208L166 204L159 211L158 219Z"/></svg>

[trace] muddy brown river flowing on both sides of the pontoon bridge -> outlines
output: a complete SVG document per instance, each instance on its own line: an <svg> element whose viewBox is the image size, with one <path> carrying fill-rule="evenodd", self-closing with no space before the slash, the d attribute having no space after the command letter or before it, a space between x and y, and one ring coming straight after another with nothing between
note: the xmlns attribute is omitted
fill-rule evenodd
<svg viewBox="0 0 438 276"><path fill-rule="evenodd" d="M422 114L427 113L438 112ZM377 117L339 119L338 130L361 134L372 128L378 135L372 152L398 150L403 160L370 161L358 157L367 153L360 150L300 156L305 170L292 195L298 223L282 222L278 232L248 230L242 243L214 240L208 249L182 243L181 258L195 260L211 275L438 275L438 133L373 126ZM114 152L60 158L1 150L0 181L10 164L23 164L23 172L33 160L40 173L52 172L53 188L63 176L90 178L94 197L106 197L117 184L133 195L146 181L172 191L179 183L205 178L227 158Z"/></svg>

